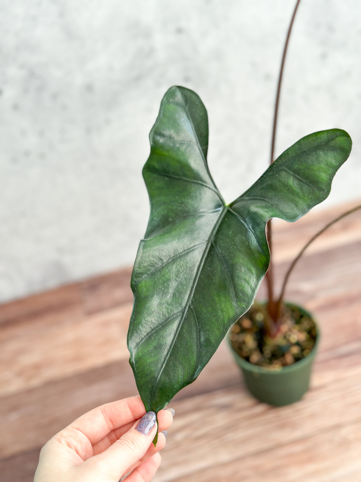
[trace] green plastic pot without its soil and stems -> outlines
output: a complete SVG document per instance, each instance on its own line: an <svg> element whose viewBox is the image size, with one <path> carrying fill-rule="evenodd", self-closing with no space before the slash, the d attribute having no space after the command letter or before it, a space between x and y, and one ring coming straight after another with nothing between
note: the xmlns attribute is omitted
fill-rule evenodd
<svg viewBox="0 0 361 482"><path fill-rule="evenodd" d="M314 321L312 315L308 311L298 306L297 308ZM228 333L228 343L234 360L242 370L248 390L255 398L257 398L257 400L270 405L283 406L297 402L307 392L309 388L312 362L315 358L320 340L320 331L317 324L316 328L316 343L309 355L302 360L299 360L290 366L284 366L277 371L253 365L240 357L233 350L230 341L230 333Z"/></svg>

